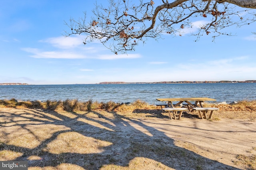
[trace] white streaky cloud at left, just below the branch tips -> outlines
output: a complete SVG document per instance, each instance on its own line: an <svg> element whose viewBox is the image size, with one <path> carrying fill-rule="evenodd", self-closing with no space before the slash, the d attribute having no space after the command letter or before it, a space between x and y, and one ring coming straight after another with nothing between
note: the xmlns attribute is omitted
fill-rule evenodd
<svg viewBox="0 0 256 170"><path fill-rule="evenodd" d="M139 54L120 54L114 53L99 55L100 51L106 50L98 46L98 43L92 43L88 46L84 46L82 43L84 36L74 37L51 37L48 39L40 40L43 43L49 43L54 49L52 51L44 51L36 48L23 48L23 51L32 53L30 57L44 58L44 59L100 59L100 60L115 60L115 59L135 59L140 58ZM86 54L86 55L84 55ZM90 55L89 55L90 54Z"/></svg>

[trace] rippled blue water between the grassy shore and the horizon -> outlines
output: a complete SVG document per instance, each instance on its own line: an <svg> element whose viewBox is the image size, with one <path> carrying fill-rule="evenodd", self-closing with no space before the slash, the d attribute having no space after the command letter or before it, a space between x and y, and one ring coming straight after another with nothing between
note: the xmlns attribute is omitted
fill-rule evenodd
<svg viewBox="0 0 256 170"><path fill-rule="evenodd" d="M72 84L0 86L0 99L159 103L156 98L208 97L216 102L256 100L256 83ZM216 103L215 102L215 103Z"/></svg>

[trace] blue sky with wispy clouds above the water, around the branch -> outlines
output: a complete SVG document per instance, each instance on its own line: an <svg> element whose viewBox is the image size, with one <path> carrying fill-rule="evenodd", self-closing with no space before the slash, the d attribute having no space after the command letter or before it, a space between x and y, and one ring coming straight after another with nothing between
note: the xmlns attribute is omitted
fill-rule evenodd
<svg viewBox="0 0 256 170"><path fill-rule="evenodd" d="M163 35L115 55L97 42L84 45L84 35L64 37L65 21L90 17L94 0L0 2L0 83L256 80L256 23L229 27L234 36L214 42L207 35L197 42L190 34Z"/></svg>

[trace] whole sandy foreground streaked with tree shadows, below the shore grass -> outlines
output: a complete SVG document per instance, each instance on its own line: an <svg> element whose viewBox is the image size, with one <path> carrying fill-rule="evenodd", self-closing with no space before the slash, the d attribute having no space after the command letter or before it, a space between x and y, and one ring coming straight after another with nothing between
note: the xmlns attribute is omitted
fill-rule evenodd
<svg viewBox="0 0 256 170"><path fill-rule="evenodd" d="M0 107L0 160L28 161L31 170L255 169L256 111L230 110L170 120L159 109Z"/></svg>

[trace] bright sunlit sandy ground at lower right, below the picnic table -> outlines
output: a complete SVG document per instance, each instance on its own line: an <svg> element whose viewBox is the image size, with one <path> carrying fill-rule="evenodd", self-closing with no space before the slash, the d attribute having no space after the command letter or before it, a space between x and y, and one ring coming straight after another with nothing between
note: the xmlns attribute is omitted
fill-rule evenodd
<svg viewBox="0 0 256 170"><path fill-rule="evenodd" d="M177 147L191 150L223 165L243 169L243 166L234 165L236 156L256 154L256 122L230 119L218 122L200 119L142 122L162 132L162 135L173 140Z"/></svg>

